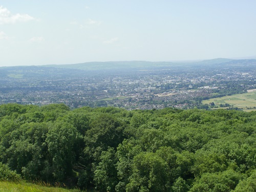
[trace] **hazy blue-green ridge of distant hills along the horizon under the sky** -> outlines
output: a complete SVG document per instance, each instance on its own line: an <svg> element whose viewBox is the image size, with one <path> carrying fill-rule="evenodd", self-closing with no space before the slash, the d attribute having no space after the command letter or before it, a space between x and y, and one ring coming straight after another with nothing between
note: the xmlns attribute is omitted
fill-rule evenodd
<svg viewBox="0 0 256 192"><path fill-rule="evenodd" d="M70 69L71 70L82 70L81 73L85 71L98 71L98 72L106 72L106 71L141 71L141 70L157 70L157 69L173 69L179 68L182 66L187 67L208 67L213 65L221 65L221 66L251 66L256 65L256 59L227 59L227 58L216 58L202 61L179 61L179 62L170 62L170 61L106 61L106 62L84 62L84 63L75 63L75 64L67 64L67 65L42 65L42 66L13 66L13 67L1 67L1 70L8 69L22 69L22 70L37 70L38 68L49 68L49 71L54 71L54 69ZM65 72L66 73L66 72Z"/></svg>

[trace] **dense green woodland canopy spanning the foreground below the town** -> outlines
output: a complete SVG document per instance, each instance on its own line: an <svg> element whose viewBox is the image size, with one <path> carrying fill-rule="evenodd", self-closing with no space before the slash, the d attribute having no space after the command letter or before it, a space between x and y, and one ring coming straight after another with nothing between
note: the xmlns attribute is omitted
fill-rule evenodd
<svg viewBox="0 0 256 192"><path fill-rule="evenodd" d="M0 169L96 191L256 191L255 121L233 110L4 104Z"/></svg>

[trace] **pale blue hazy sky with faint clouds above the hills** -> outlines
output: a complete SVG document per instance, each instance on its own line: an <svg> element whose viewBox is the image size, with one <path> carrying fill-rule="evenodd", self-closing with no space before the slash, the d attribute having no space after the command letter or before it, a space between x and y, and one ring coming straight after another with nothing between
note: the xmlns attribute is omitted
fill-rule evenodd
<svg viewBox="0 0 256 192"><path fill-rule="evenodd" d="M0 67L256 58L255 0L0 0Z"/></svg>

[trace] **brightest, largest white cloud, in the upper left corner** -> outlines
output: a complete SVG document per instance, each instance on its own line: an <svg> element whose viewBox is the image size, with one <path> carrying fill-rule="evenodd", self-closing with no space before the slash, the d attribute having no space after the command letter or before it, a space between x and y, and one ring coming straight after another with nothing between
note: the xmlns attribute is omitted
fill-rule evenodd
<svg viewBox="0 0 256 192"><path fill-rule="evenodd" d="M16 22L27 22L29 20L35 20L35 18L28 14L11 14L7 8L0 6L0 24L14 24Z"/></svg>

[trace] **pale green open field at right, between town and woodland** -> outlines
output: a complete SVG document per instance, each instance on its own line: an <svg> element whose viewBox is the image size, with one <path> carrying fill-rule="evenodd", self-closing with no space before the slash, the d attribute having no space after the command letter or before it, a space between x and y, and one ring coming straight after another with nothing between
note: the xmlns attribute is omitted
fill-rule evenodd
<svg viewBox="0 0 256 192"><path fill-rule="evenodd" d="M203 104L209 104L210 102L214 102L215 106L218 107L220 107L220 104L228 103L234 108L240 108L245 111L254 111L256 110L254 109L256 108L256 91L207 99L203 100L202 102Z"/></svg>

